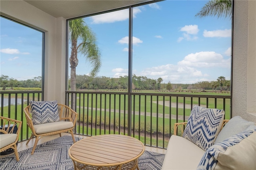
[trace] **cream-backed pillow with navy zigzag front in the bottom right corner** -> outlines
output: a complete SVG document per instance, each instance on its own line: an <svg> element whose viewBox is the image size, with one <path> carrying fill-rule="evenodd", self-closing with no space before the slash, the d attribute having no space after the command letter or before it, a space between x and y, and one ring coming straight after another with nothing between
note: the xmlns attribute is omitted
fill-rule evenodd
<svg viewBox="0 0 256 170"><path fill-rule="evenodd" d="M255 170L256 127L234 135L206 150L198 170Z"/></svg>

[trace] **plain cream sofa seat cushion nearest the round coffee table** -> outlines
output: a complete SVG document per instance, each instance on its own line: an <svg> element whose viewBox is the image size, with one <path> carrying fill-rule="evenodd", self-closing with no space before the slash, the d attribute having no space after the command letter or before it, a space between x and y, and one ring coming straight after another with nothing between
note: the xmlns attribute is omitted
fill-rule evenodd
<svg viewBox="0 0 256 170"><path fill-rule="evenodd" d="M196 169L205 151L191 141L176 135L170 137L162 170Z"/></svg>

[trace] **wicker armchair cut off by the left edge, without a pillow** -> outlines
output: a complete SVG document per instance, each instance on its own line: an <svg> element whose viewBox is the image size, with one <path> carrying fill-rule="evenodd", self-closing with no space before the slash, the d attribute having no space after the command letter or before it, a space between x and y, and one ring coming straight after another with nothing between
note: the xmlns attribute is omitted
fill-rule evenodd
<svg viewBox="0 0 256 170"><path fill-rule="evenodd" d="M22 121L0 116L0 122L0 152L3 152L7 149L13 149L16 160L19 161L20 158L18 155L16 143L19 140ZM14 130L16 127L17 130Z"/></svg>

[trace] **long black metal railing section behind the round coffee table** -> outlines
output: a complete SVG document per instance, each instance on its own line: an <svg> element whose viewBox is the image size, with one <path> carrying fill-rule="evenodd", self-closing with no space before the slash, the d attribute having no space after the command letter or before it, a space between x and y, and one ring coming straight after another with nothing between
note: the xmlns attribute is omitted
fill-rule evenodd
<svg viewBox="0 0 256 170"><path fill-rule="evenodd" d="M166 148L176 122L187 121L194 105L225 110L230 119L231 96L131 93L128 113L126 92L66 92L66 105L78 113L76 134L93 136L128 131L144 145ZM128 115L132 121L129 125Z"/></svg>

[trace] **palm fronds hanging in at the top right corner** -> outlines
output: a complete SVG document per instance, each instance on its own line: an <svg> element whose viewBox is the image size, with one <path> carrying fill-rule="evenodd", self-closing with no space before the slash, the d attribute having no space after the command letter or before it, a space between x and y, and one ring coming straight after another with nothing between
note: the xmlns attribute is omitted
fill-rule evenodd
<svg viewBox="0 0 256 170"><path fill-rule="evenodd" d="M210 0L196 14L196 17L205 16L230 17L232 16L232 0Z"/></svg>

